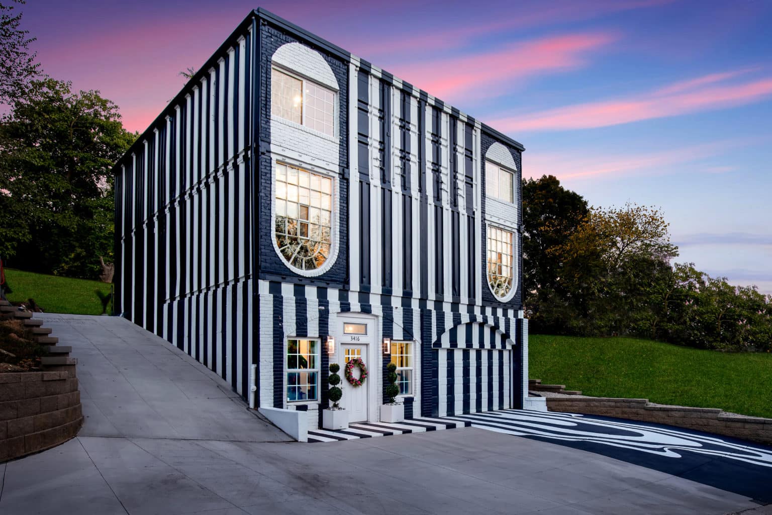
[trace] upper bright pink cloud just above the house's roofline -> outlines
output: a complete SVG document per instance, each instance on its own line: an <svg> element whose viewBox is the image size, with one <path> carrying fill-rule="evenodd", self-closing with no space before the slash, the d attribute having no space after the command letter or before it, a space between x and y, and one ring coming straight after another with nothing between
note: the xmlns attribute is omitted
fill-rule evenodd
<svg viewBox="0 0 772 515"><path fill-rule="evenodd" d="M437 97L457 97L479 86L511 87L512 81L539 73L577 68L586 62L587 53L614 39L608 33L553 36L488 53L398 66L394 72Z"/></svg>

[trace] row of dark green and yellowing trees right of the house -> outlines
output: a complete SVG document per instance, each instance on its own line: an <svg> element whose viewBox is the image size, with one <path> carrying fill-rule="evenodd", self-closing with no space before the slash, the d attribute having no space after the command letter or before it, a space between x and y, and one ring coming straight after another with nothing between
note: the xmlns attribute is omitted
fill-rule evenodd
<svg viewBox="0 0 772 515"><path fill-rule="evenodd" d="M657 208L587 208L553 176L523 181L524 304L535 333L638 335L728 351L772 351L772 296L693 263Z"/></svg>

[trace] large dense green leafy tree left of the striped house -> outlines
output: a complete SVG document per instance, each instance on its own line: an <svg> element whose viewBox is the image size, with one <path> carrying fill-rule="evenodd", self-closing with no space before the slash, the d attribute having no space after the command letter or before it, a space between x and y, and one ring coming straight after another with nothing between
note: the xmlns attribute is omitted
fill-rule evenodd
<svg viewBox="0 0 772 515"><path fill-rule="evenodd" d="M32 80L0 118L0 252L25 269L96 278L113 253L113 164L137 137L98 91Z"/></svg>

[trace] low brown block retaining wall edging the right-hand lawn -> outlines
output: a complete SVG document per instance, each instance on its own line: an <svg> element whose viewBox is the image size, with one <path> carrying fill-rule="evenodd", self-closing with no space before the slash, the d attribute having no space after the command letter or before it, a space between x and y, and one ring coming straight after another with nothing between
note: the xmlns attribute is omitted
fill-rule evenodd
<svg viewBox="0 0 772 515"><path fill-rule="evenodd" d="M645 398L571 396L548 397L547 409L675 425L772 445L772 418L728 415L717 408L655 405Z"/></svg>

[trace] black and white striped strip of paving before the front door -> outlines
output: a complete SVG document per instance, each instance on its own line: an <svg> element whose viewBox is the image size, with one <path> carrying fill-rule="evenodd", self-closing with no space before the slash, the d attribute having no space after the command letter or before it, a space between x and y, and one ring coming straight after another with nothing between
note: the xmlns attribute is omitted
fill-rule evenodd
<svg viewBox="0 0 772 515"><path fill-rule="evenodd" d="M413 432L438 431L469 427L472 422L448 420L446 418L410 418L404 422L358 422L349 424L347 429L312 429L308 432L308 441L336 442L338 440L356 440L375 436L405 435Z"/></svg>

